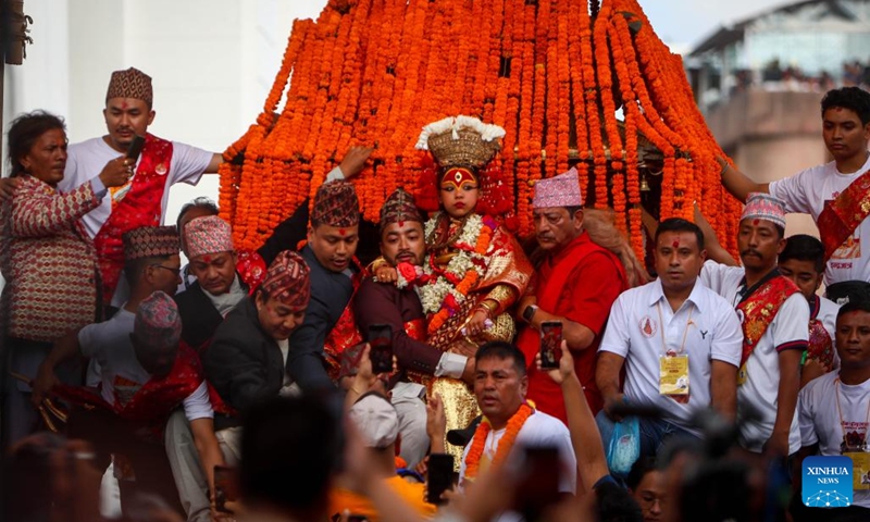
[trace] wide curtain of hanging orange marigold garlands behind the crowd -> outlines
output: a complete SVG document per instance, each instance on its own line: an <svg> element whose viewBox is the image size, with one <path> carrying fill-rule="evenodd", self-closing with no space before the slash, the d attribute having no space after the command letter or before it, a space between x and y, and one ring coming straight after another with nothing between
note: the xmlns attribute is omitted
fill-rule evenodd
<svg viewBox="0 0 870 522"><path fill-rule="evenodd" d="M481 206L520 235L534 182L576 163L586 199L614 208L643 257L639 137L663 157L660 217L692 219L697 201L734 247L724 153L637 0L330 0L315 22L294 22L262 113L220 167L236 245L258 248L353 145L376 144L353 181L376 221L386 195L427 169L413 137L456 113L507 130Z"/></svg>

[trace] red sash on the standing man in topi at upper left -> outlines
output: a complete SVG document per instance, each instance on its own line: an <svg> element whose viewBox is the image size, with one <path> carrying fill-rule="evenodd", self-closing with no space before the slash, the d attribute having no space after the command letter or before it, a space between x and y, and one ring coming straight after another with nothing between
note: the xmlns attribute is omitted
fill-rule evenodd
<svg viewBox="0 0 870 522"><path fill-rule="evenodd" d="M112 301L124 268L124 244L121 236L140 226L160 225L163 213L161 203L171 161L172 141L146 135L141 161L136 175L133 176L129 191L115 204L109 219L94 238L102 276L104 303Z"/></svg>

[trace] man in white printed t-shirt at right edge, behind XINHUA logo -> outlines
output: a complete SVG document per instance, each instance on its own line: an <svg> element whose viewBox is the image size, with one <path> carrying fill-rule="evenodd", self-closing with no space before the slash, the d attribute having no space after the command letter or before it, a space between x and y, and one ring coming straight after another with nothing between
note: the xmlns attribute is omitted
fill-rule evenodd
<svg viewBox="0 0 870 522"><path fill-rule="evenodd" d="M845 455L853 459L853 474L862 476L870 472L870 302L850 301L840 309L836 349L840 371L828 373L800 390L798 464L811 455ZM870 520L870 484L854 489L849 508L809 509L803 500L796 498L792 504L797 522L829 520L846 514L844 511L863 515L854 520Z"/></svg>

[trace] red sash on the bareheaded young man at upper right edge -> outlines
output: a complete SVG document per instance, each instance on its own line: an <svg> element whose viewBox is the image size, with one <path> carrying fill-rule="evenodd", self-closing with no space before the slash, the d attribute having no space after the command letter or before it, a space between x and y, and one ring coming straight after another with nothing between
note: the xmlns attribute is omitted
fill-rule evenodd
<svg viewBox="0 0 870 522"><path fill-rule="evenodd" d="M870 215L870 171L865 172L840 192L833 201L824 202L824 210L816 224L824 244L824 261L828 262L855 228Z"/></svg>

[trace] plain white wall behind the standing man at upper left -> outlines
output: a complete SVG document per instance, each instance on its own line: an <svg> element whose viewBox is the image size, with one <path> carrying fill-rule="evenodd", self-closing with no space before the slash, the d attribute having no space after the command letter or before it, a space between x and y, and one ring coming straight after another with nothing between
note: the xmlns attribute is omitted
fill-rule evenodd
<svg viewBox="0 0 870 522"><path fill-rule="evenodd" d="M64 115L72 142L104 134L109 77L135 66L153 78L157 117L149 132L222 152L262 110L294 18L315 18L325 4L24 0L34 18L34 45L23 65L5 66L3 141L9 122L35 109ZM204 176L197 187L174 187L167 221L196 196L216 199L217 176Z"/></svg>

